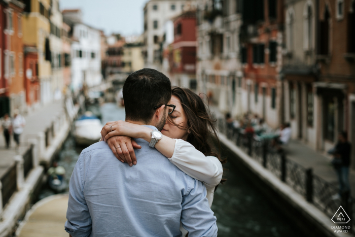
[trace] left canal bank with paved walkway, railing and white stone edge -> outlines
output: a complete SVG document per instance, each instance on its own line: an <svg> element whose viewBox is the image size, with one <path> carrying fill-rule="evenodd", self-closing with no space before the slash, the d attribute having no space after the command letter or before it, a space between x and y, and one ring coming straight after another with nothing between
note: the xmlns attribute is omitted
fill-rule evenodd
<svg viewBox="0 0 355 237"><path fill-rule="evenodd" d="M45 106L25 116L19 149L0 150L0 236L12 234L29 209L78 111L70 98Z"/></svg>

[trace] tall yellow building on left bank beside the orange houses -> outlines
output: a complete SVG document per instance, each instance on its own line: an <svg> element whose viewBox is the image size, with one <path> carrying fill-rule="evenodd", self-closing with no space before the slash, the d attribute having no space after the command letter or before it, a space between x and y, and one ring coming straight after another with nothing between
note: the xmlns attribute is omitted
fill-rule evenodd
<svg viewBox="0 0 355 237"><path fill-rule="evenodd" d="M38 71L41 85L41 103L52 100L52 54L50 49L50 0L27 0L22 15L23 44L38 50Z"/></svg>

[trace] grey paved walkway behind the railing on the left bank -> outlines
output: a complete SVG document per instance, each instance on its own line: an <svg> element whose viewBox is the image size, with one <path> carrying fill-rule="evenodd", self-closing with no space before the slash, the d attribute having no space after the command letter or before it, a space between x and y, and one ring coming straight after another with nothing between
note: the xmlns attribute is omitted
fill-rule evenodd
<svg viewBox="0 0 355 237"><path fill-rule="evenodd" d="M34 112L29 113L24 116L26 120L26 125L23 129L23 133L20 136L20 149L19 154L27 149L28 144L27 140L30 138L35 138L35 136L40 131L45 131L53 121L53 118L58 116L60 112L63 111L63 100L53 101L51 104L48 104ZM13 136L11 136L11 148L6 149L5 138L3 136L3 131L1 129L0 136L0 177L3 176L7 168L14 163L14 156L18 155L18 152L15 149L15 141Z"/></svg>

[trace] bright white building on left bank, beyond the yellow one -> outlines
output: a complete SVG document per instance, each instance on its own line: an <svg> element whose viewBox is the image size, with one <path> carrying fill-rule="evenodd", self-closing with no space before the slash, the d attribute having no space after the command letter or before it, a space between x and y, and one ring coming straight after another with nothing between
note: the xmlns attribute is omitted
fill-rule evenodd
<svg viewBox="0 0 355 237"><path fill-rule="evenodd" d="M64 22L72 27L72 90L84 84L89 88L101 83L100 30L82 22L80 10L64 10Z"/></svg>

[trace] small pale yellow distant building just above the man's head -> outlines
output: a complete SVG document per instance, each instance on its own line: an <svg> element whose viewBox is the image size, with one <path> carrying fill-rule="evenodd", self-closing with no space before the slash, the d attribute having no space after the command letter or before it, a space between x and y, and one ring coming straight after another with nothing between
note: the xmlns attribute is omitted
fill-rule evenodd
<svg viewBox="0 0 355 237"><path fill-rule="evenodd" d="M142 43L126 44L123 48L122 71L132 73L144 68Z"/></svg>

